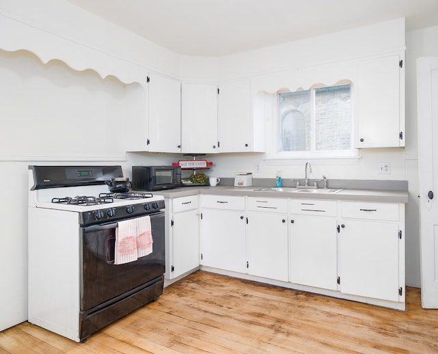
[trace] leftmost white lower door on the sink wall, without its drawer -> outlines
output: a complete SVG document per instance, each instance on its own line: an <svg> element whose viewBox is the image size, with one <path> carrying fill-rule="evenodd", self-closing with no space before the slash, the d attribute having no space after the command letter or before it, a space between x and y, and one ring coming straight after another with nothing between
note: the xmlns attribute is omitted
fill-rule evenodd
<svg viewBox="0 0 438 354"><path fill-rule="evenodd" d="M203 209L202 264L245 273L244 212Z"/></svg>

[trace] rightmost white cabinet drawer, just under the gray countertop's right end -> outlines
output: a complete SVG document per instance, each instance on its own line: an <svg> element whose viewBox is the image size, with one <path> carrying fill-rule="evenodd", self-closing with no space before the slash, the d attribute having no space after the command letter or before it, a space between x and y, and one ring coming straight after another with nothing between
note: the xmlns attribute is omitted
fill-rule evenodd
<svg viewBox="0 0 438 354"><path fill-rule="evenodd" d="M340 217L398 221L398 204L375 202L339 202Z"/></svg>

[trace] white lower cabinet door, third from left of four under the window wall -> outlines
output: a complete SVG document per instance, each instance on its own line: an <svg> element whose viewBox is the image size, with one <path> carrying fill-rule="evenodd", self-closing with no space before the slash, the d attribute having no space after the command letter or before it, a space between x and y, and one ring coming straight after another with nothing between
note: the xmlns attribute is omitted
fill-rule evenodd
<svg viewBox="0 0 438 354"><path fill-rule="evenodd" d="M290 281L336 290L336 218L291 215L290 219Z"/></svg>

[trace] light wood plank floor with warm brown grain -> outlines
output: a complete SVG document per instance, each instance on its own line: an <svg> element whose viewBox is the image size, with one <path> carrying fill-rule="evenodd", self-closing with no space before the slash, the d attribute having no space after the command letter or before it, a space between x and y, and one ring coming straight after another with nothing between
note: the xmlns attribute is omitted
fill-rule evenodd
<svg viewBox="0 0 438 354"><path fill-rule="evenodd" d="M3 353L438 353L438 310L417 288L400 312L198 271L86 343L22 323Z"/></svg>

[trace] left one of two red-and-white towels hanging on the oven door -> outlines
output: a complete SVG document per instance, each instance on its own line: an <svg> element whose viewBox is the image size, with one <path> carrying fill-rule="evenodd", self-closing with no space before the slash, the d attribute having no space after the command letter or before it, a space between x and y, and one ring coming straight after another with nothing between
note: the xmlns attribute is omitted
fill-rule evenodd
<svg viewBox="0 0 438 354"><path fill-rule="evenodd" d="M114 264L125 264L137 260L137 219L119 221L116 228Z"/></svg>

